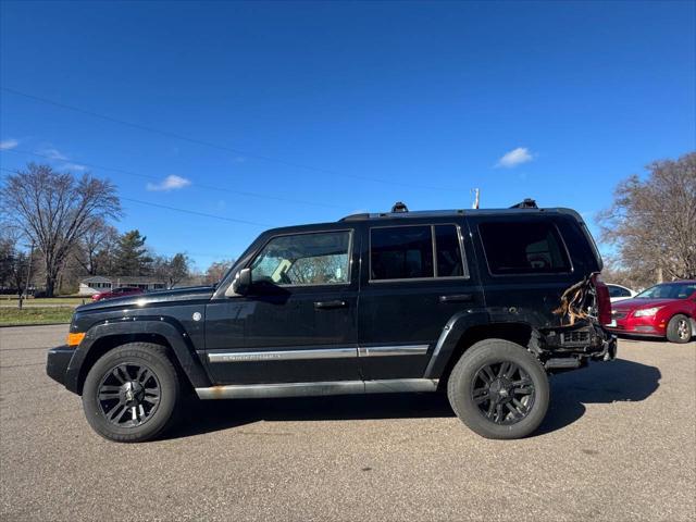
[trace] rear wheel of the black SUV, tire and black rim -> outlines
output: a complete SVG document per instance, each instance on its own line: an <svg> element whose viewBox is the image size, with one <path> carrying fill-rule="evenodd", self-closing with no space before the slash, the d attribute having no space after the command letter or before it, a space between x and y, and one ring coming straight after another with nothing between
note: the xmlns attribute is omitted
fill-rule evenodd
<svg viewBox="0 0 696 522"><path fill-rule="evenodd" d="M447 397L457 417L482 437L522 438L546 417L549 384L542 363L524 347L485 339L452 369Z"/></svg>

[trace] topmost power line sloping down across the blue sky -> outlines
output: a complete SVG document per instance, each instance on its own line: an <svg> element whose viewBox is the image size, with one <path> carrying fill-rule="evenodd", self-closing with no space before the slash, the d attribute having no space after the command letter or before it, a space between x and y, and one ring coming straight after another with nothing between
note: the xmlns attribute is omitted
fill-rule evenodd
<svg viewBox="0 0 696 522"><path fill-rule="evenodd" d="M277 163L277 164L282 164L282 165L286 165L286 166L293 166L295 169L302 169L306 171L312 171L312 172L319 172L319 173L323 173L323 174L331 174L334 176L341 176L341 177L348 177L348 178L352 178L352 179L361 179L361 181L365 181L365 182L373 182L373 183L381 183L381 184L386 184L386 185L399 185L402 187L411 187L411 188L419 188L419 189L427 189L427 190L442 190L442 191L447 191L447 192L451 192L455 191L457 189L455 188L446 188L446 187L434 187L434 186L428 186L428 185L420 185L420 184L413 184L413 183L405 183L405 182L398 182L398 181L391 181L391 179L380 179L380 178L375 178L375 177L368 177L368 176L359 176L356 174L346 174L346 173L341 173L341 172L337 172L331 169L322 169L322 167L316 167L316 166L312 166L312 165L307 165L303 163L296 163L294 161L287 161L287 160L282 160L278 158L272 158L269 156L262 156L262 154L257 154L253 152L247 152L240 149L236 149L233 147L227 147L225 145L220 145L220 144L214 144L212 141L207 141L203 139L198 139L198 138L192 138L189 136L184 136L182 134L177 134L177 133L172 133L170 130L162 130L160 128L156 128L156 127L151 127L148 125L141 125L139 123L133 123L133 122L128 122L126 120L121 120L119 117L114 117L114 116L110 116L108 114L102 114L99 112L95 112L95 111L90 111L87 109L82 109L79 107L75 107L75 105L69 105L67 103L63 103L60 101L55 101L55 100L50 100L48 98L42 98L40 96L35 96L35 95L30 95L28 92L22 92L20 90L16 89L12 89L9 87L0 87L0 90L3 90L5 92L10 92L12 95L15 96L22 96L24 98L27 98L29 100L34 100L34 101L38 101L41 103L46 103L49 105L54 105L54 107L59 107L61 109L65 109L69 111L74 111L74 112L78 112L80 114L85 114L91 117L97 117L100 120L104 120L111 123L117 123L119 125L125 125L132 128L137 128L139 130L145 130L148 133L152 133L152 134L159 134L161 136L165 136L169 138L174 138L174 139L179 139L182 141L188 141L191 144L196 144L196 145L201 145L203 147L210 147L212 149L217 149L217 150L224 150L227 152L233 152L235 154L243 154L246 156L248 158L252 158L254 160L261 160L261 161L268 161L271 163Z"/></svg>

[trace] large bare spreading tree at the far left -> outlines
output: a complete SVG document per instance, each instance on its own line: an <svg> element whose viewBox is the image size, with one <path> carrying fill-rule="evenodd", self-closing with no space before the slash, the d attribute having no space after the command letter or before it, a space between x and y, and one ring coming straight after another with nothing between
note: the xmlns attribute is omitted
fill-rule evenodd
<svg viewBox="0 0 696 522"><path fill-rule="evenodd" d="M53 296L63 263L92 220L121 215L115 192L109 181L90 174L76 178L35 163L7 176L0 212L9 227L33 240L41 252L47 296Z"/></svg>

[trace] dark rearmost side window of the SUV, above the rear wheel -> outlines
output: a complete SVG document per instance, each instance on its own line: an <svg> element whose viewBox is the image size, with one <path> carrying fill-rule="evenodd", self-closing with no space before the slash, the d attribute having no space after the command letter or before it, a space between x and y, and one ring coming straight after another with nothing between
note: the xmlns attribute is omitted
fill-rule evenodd
<svg viewBox="0 0 696 522"><path fill-rule="evenodd" d="M492 274L570 272L566 248L552 223L481 223L478 232Z"/></svg>

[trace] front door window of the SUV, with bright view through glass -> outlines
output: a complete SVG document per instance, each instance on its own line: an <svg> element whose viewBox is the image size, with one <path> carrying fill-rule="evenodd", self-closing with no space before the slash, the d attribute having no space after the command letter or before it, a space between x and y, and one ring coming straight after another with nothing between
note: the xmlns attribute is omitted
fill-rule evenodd
<svg viewBox="0 0 696 522"><path fill-rule="evenodd" d="M251 263L252 279L281 286L348 283L349 244L349 232L274 237Z"/></svg>

